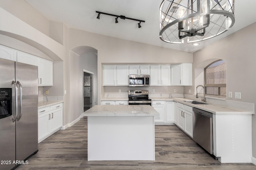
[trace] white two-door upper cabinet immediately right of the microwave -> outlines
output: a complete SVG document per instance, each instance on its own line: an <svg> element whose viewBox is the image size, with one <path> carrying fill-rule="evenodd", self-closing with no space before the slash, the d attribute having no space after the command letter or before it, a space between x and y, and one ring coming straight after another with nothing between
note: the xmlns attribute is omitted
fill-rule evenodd
<svg viewBox="0 0 256 170"><path fill-rule="evenodd" d="M170 76L170 65L150 65L150 86L170 86Z"/></svg>

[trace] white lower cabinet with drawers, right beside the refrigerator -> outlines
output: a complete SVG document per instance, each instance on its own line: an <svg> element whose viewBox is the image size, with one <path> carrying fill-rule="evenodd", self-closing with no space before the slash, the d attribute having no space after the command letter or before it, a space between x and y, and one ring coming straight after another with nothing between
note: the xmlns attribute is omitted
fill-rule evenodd
<svg viewBox="0 0 256 170"><path fill-rule="evenodd" d="M63 103L38 109L38 143L62 127Z"/></svg>

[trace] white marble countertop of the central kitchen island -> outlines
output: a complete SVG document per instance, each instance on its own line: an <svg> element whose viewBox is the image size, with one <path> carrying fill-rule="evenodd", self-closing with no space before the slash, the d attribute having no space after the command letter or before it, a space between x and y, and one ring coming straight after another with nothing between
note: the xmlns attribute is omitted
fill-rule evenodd
<svg viewBox="0 0 256 170"><path fill-rule="evenodd" d="M96 105L82 116L159 116L150 105Z"/></svg>

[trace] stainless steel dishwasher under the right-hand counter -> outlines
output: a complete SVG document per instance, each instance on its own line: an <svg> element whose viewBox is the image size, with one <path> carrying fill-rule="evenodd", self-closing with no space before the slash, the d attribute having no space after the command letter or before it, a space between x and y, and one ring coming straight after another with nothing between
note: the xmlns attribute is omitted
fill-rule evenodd
<svg viewBox="0 0 256 170"><path fill-rule="evenodd" d="M213 154L212 113L193 107L193 140Z"/></svg>

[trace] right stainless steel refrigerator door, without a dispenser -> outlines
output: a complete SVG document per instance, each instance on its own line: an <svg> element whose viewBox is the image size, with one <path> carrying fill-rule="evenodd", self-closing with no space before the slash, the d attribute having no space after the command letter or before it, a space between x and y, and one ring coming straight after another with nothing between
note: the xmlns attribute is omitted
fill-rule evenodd
<svg viewBox="0 0 256 170"><path fill-rule="evenodd" d="M24 160L38 150L37 66L16 62L16 82L22 99L16 120L16 160Z"/></svg>

